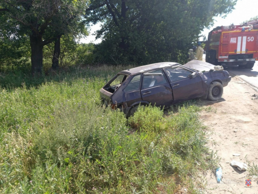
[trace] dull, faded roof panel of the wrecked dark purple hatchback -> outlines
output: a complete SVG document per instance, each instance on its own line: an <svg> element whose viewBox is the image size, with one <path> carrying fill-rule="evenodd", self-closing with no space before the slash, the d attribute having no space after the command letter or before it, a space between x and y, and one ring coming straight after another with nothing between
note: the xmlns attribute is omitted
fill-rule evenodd
<svg viewBox="0 0 258 194"><path fill-rule="evenodd" d="M174 66L174 65L178 65L178 63L174 63L174 62L153 63L153 64L149 64L149 65L143 65L140 67L127 69L127 70L120 71L120 72L129 73L131 75L134 75L134 74L151 71L151 70L158 69L158 68L170 67L170 66Z"/></svg>

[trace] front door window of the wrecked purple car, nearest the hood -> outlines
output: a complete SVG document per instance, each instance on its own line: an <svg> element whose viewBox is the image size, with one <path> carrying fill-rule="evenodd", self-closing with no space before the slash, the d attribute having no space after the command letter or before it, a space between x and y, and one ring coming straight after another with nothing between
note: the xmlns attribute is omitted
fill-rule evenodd
<svg viewBox="0 0 258 194"><path fill-rule="evenodd" d="M188 69L182 68L180 66L166 68L165 72L172 82L188 78L193 73L192 71L189 71Z"/></svg>

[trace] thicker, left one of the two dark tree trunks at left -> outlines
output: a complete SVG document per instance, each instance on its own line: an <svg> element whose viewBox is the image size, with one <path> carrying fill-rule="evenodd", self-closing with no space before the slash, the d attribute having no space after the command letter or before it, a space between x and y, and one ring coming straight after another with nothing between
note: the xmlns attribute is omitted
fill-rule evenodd
<svg viewBox="0 0 258 194"><path fill-rule="evenodd" d="M31 68L32 75L41 74L43 68L43 44L42 38L36 35L30 35L31 47Z"/></svg>

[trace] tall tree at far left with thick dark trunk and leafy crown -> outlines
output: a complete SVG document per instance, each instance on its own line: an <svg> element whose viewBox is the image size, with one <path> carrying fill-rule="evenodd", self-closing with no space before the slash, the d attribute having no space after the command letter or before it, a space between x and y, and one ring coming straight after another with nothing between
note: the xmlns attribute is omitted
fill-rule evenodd
<svg viewBox="0 0 258 194"><path fill-rule="evenodd" d="M2 30L12 29L12 36L29 36L32 73L41 73L43 47L73 31L69 26L86 8L85 0L2 0L0 26Z"/></svg>

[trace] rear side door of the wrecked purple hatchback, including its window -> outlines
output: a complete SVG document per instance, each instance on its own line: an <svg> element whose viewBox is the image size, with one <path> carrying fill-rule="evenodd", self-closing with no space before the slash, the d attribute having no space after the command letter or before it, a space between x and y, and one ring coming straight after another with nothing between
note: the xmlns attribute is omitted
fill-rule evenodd
<svg viewBox="0 0 258 194"><path fill-rule="evenodd" d="M143 73L141 97L144 101L158 107L172 105L172 89L162 69Z"/></svg>

